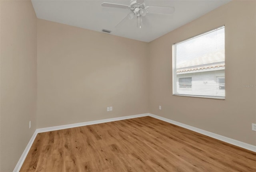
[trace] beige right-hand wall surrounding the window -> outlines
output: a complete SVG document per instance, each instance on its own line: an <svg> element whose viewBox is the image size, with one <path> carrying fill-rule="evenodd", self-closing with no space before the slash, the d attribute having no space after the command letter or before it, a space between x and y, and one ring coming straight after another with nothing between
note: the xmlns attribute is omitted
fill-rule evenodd
<svg viewBox="0 0 256 172"><path fill-rule="evenodd" d="M149 44L150 113L256 145L256 2L232 1ZM172 44L225 25L226 100L172 96ZM158 106L162 105L162 110Z"/></svg>

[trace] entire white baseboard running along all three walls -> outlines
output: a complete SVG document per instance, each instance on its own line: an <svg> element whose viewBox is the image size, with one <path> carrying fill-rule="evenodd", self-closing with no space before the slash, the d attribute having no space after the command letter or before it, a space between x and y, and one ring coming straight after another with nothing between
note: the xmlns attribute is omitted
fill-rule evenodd
<svg viewBox="0 0 256 172"><path fill-rule="evenodd" d="M144 117L144 116L150 116L150 117L154 117L156 119L160 119L162 121L166 121L168 123L172 123L174 125L178 125L180 127L195 131L197 133L212 137L214 139L218 139L220 141L224 141L226 143L230 143L232 145L238 146L238 147L242 147L244 149L248 149L250 151L256 152L256 146L254 145L250 145L248 143L244 143L241 141L237 141L234 139L230 139L228 137L224 137L222 135L218 135L215 133L211 133L209 131L205 131L202 129L198 129L196 127L192 127L190 125L186 125L183 123L179 123L177 121L173 121L171 119L167 119L164 117L160 117L158 115L153 115L151 113L143 113L143 114L139 114L139 115L130 115L130 116L124 116L124 117L116 117L116 118L109 118L109 119L101 119L101 120L97 120L97 121L88 121L88 122L83 122L83 123L74 123L74 124L68 124L68 125L60 125L60 126L55 126L55 127L47 127L47 128L40 128L40 129L36 129L36 131L34 132L34 134L32 135L30 141L28 142L28 145L26 147L26 149L24 150L24 152L22 153L20 160L18 161L16 167L14 168L13 172L19 172L20 168L22 167L22 164L36 138L36 135L38 133L42 133L42 132L47 132L47 131L55 131L55 130L60 130L60 129L68 129L68 128L73 128L73 127L81 127L81 126L86 126L86 125L93 125L93 124L99 124L99 123L106 123L106 122L111 122L111 121L120 121L120 120L124 120L124 119L132 119L132 118L136 118L136 117Z"/></svg>

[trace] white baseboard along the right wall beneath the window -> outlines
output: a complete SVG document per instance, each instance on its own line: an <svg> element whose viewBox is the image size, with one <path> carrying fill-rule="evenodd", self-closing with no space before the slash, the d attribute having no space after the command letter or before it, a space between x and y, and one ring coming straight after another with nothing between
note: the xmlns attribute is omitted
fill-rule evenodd
<svg viewBox="0 0 256 172"><path fill-rule="evenodd" d="M168 123L172 123L174 125L178 125L180 127L183 127L183 128L186 128L186 129L189 129L189 130L192 130L192 131L195 131L195 132L203 134L203 135L207 135L207 136L212 137L214 139L218 139L220 141L224 141L226 143L230 143L231 145L235 145L235 146L238 146L238 147L241 147L241 148L244 148L244 149L256 152L256 146L254 146L254 145L250 145L248 143L244 143L244 142L241 142L241 141L238 141L238 140L235 140L235 139L230 139L230 138L224 137L222 135L218 135L218 134L215 134L215 133L212 133L212 132L209 132L209 131L205 131L205 130L202 130L202 129L199 129L199 128L196 128L196 127L192 127L190 125L179 123L177 121L173 121L171 119L160 117L158 115L153 115L151 113L149 113L149 116L154 117L156 119L160 119L162 121L166 121Z"/></svg>

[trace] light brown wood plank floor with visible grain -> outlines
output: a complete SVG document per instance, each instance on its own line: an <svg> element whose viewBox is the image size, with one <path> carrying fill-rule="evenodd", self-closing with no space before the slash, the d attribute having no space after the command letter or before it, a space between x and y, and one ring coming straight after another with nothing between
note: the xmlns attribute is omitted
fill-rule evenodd
<svg viewBox="0 0 256 172"><path fill-rule="evenodd" d="M256 153L140 117L39 133L22 172L256 172Z"/></svg>

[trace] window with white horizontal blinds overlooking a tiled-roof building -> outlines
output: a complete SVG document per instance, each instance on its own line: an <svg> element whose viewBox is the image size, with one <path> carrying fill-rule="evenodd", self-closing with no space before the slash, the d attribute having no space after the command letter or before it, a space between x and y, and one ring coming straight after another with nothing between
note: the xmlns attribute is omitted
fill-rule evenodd
<svg viewBox="0 0 256 172"><path fill-rule="evenodd" d="M225 99L225 27L172 45L173 95Z"/></svg>

